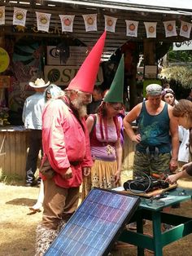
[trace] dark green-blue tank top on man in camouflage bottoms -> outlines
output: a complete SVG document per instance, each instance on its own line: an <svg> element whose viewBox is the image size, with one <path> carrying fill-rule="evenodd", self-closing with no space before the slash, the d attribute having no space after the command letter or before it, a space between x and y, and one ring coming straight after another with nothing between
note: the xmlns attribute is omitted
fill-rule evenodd
<svg viewBox="0 0 192 256"><path fill-rule="evenodd" d="M146 152L146 148L159 148L159 153L171 151L169 139L169 117L168 104L158 115L152 116L146 110L146 103L142 103L142 111L137 118L138 132L141 135L141 142L137 144L138 152Z"/></svg>

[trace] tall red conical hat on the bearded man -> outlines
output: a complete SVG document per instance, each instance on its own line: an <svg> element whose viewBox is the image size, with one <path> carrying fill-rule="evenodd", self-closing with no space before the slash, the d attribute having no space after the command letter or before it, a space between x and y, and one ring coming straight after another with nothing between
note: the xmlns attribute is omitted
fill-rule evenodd
<svg viewBox="0 0 192 256"><path fill-rule="evenodd" d="M101 56L103 54L105 38L106 31L104 31L103 35L98 39L98 42L96 42L93 49L89 52L89 55L76 73L76 77L70 82L67 90L81 90L92 94Z"/></svg>

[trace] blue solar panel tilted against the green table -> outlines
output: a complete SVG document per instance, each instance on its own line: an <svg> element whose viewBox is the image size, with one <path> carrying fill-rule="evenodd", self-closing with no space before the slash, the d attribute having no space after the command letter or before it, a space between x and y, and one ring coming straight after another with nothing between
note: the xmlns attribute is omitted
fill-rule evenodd
<svg viewBox="0 0 192 256"><path fill-rule="evenodd" d="M137 196L93 188L45 255L107 255L139 203Z"/></svg>

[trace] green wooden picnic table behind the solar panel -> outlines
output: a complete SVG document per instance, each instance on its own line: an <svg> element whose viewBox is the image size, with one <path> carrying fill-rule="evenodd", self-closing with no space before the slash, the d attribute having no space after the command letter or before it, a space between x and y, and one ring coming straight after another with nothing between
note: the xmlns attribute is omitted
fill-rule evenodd
<svg viewBox="0 0 192 256"><path fill-rule="evenodd" d="M152 201L141 197L141 203L133 214L130 223L137 222L137 232L124 229L119 241L137 246L137 255L143 256L144 249L151 249L155 256L163 255L165 245L177 241L192 232L192 218L168 214L164 208L191 200L192 189L174 188L167 196L159 201ZM154 202L154 203L153 203ZM153 236L143 234L143 219L152 221ZM161 231L161 224L168 223L173 227L168 231Z"/></svg>

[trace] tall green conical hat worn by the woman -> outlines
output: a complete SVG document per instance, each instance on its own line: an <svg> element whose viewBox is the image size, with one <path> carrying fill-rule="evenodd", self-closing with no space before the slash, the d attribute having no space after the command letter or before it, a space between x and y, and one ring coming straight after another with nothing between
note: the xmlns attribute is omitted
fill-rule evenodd
<svg viewBox="0 0 192 256"><path fill-rule="evenodd" d="M124 94L124 55L121 56L120 64L116 70L116 75L103 101L111 102L111 103L123 103L123 94Z"/></svg>

